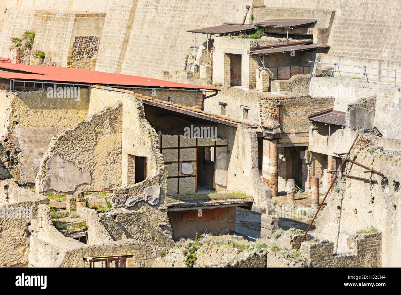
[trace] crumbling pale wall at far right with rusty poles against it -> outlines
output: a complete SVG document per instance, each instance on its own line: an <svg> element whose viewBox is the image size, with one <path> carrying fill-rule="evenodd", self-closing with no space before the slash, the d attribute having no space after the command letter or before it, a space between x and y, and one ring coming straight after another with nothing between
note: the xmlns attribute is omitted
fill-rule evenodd
<svg viewBox="0 0 401 295"><path fill-rule="evenodd" d="M384 150L377 148L371 152L369 149L372 146L384 146ZM316 225L316 235L334 240L334 249L344 253L348 251L348 236L360 230L369 231L374 227L383 236L383 267L400 266L400 259L395 254L399 249L397 241L400 239L398 229L401 222L397 213L401 201L397 166L400 157L399 152L386 147L382 138L371 138L371 143L368 140L365 144L363 141L357 142L350 159L383 173L387 180L374 173L364 173L366 169L348 163L346 169L350 169L350 175L371 177L377 180L377 183L369 184L346 178L346 184L340 187L339 193L333 192L328 196L328 205Z"/></svg>

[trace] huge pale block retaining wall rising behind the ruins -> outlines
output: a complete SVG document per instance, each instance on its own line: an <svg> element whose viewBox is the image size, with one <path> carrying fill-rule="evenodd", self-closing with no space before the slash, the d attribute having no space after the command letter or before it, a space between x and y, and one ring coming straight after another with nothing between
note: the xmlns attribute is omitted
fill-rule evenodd
<svg viewBox="0 0 401 295"><path fill-rule="evenodd" d="M68 10L85 13L93 11L96 7L97 12L107 15L96 69L101 71L111 69L122 73L156 77L160 69L176 70L177 60L182 60L181 67L184 68L186 50L193 45L193 34L186 33L186 30L219 25L225 21L239 22L242 20L246 4L251 5L251 2L223 0L217 6L208 0L190 0L184 4L173 0L162 0L157 3L153 0L126 0L118 3L105 0L97 2L85 0L79 3L55 0L50 4L38 0L24 3L4 1L1 6L1 10L5 13L1 23L0 53L2 56L8 55L8 49L12 45L10 37L20 36L24 31L35 31L38 28L35 18L38 10L52 9L59 12L62 9L66 15ZM397 2L382 5L374 1L308 0L288 4L284 0L268 0L264 5L265 8L253 9L255 22L265 19L266 15L271 18L318 18L318 27L327 28L330 25L330 12L336 11L328 39L331 48L328 56L321 58L321 61L358 65L361 61L367 61L367 66L371 67L399 68L400 63L397 61L401 58L397 48L400 47L400 41L393 38L398 31L383 29L387 28L389 21L393 24L393 28L399 28ZM59 24L59 19L60 17L49 19L41 26L50 26L52 22L62 28L63 22ZM250 13L246 23L249 21ZM169 36L166 37L166 34ZM121 37L115 38L116 35ZM56 34L54 39L58 38ZM172 40L167 43L167 38ZM205 39L202 39L203 41ZM136 46L130 46L133 43ZM369 44L375 44L376 47L368 50ZM111 51L111 45L116 49ZM59 48L61 51L62 47L67 46L61 43L60 47L55 49ZM149 55L149 49L155 53ZM136 57L134 62L132 57Z"/></svg>

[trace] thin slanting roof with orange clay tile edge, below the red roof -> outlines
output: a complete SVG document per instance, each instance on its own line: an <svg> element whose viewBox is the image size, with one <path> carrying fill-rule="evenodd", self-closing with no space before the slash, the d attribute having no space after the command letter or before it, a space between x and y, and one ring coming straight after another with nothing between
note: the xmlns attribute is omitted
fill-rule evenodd
<svg viewBox="0 0 401 295"><path fill-rule="evenodd" d="M119 92L134 94L134 95L139 96L140 98L142 98L142 101L145 102L145 103L146 103L146 100L147 100L147 101L155 102L156 104L161 104L161 105L164 105L164 106L169 106L169 107L171 107L171 108L180 108L180 109L182 109L182 110L183 110L186 114L188 114L188 115L191 115L191 112L195 112L195 113L204 115L204 116L205 116L205 119L207 119L207 117L213 117L213 118L217 118L217 119L221 120L222 122L226 121L226 122L232 122L232 123L236 123L236 124L243 124L243 125L251 126L251 124L249 124L249 123L241 122L241 121L239 121L239 120L235 120L235 119L232 119L232 118L230 118L230 117L220 116L220 115L217 115L217 114L212 114L212 113L210 113L210 112L203 112L203 111L201 111L201 110L197 110L197 109L193 109L193 108L188 108L188 107L186 107L186 106L181 106L181 105L179 105L179 104L173 104L173 103L171 103L171 102L166 102L166 101L164 101L164 100L158 100L158 99L156 99L156 98L152 98L152 97L150 97L150 96L144 96L144 95L142 95L142 94L138 94L138 93L135 93L135 92L130 91L130 90L124 90L124 89L113 88L113 87L107 87L107 86L100 86L100 85L93 85L92 87L94 87L94 88L99 88L99 89L104 89L104 90L112 90L112 91L119 91Z"/></svg>

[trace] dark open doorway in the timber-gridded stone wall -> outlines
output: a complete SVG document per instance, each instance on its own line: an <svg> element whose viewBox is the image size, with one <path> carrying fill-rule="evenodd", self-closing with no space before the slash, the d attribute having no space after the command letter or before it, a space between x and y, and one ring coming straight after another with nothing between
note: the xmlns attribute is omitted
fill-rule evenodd
<svg viewBox="0 0 401 295"><path fill-rule="evenodd" d="M198 147L196 190L214 189L215 162L213 161L213 147Z"/></svg>

